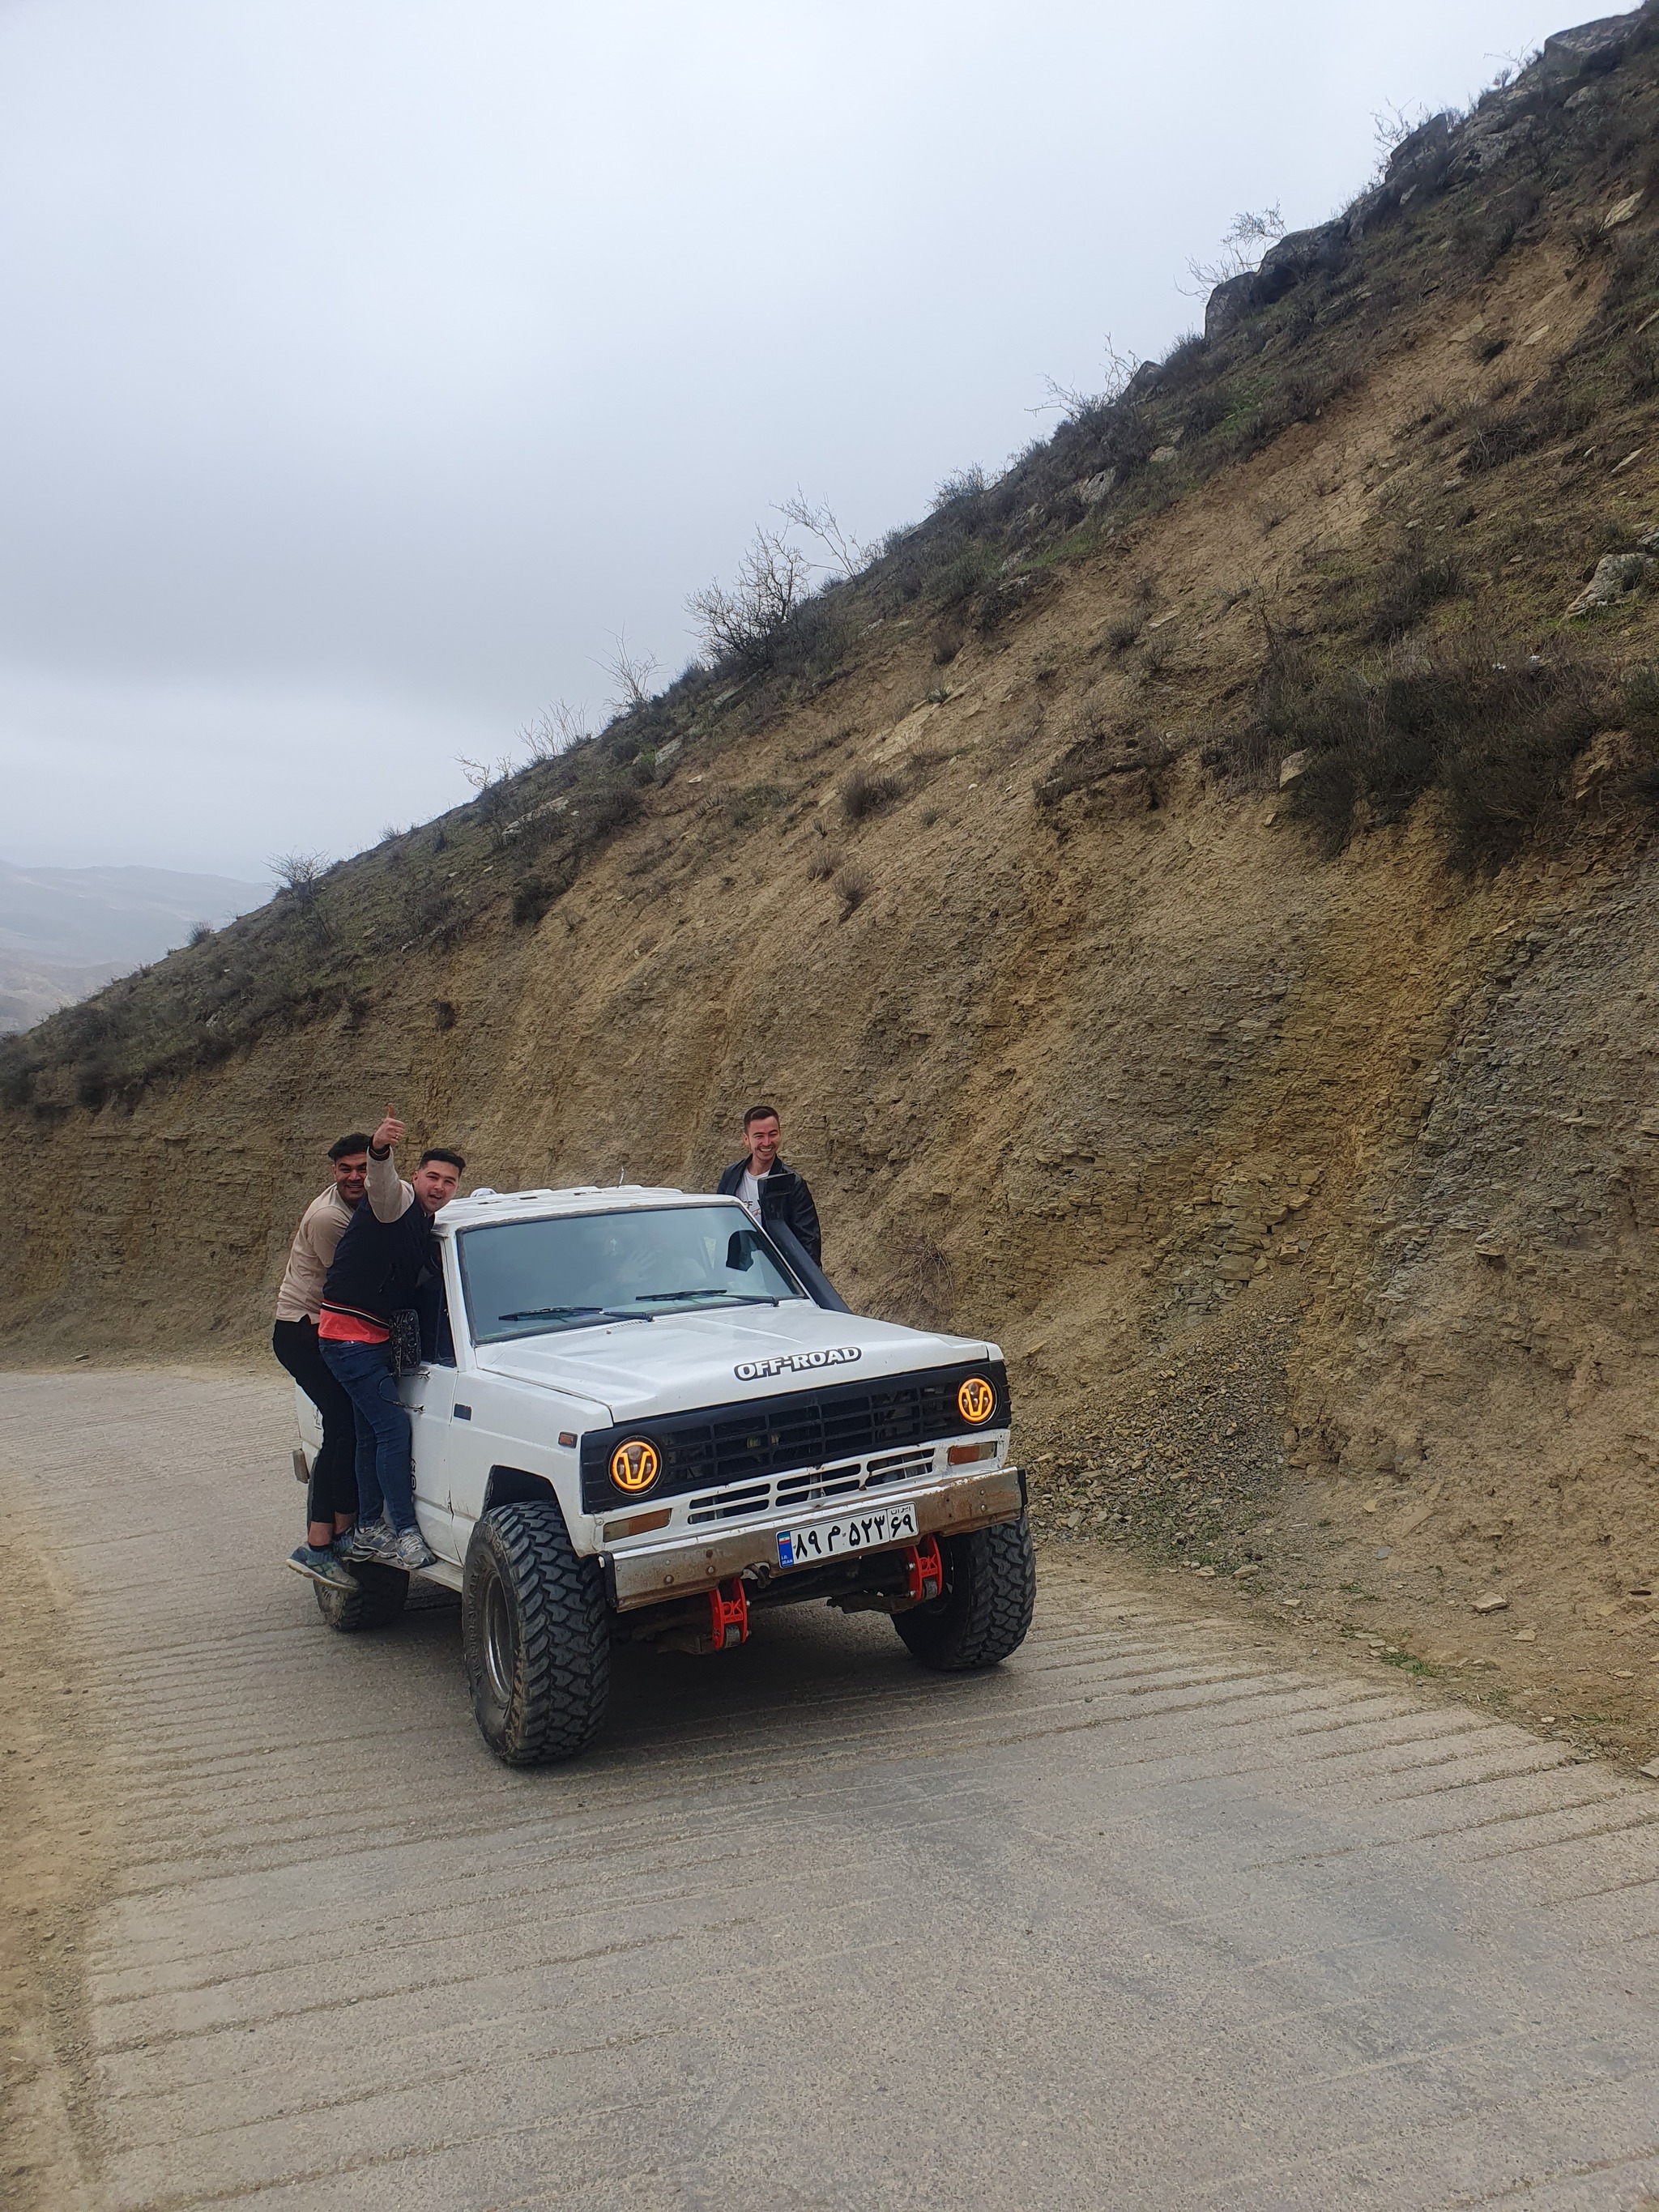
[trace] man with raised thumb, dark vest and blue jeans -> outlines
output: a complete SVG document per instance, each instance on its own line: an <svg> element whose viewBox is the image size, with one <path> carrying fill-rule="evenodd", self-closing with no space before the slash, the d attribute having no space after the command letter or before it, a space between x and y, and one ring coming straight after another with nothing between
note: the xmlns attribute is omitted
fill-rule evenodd
<svg viewBox="0 0 1659 2212"><path fill-rule="evenodd" d="M420 1283L438 1272L431 1217L456 1194L467 1161L434 1148L420 1155L414 1181L392 1159L403 1121L387 1106L369 1137L367 1197L334 1248L323 1279L316 1343L356 1416L356 1531L347 1559L420 1568L431 1553L414 1509L409 1411L398 1398L392 1327L416 1303Z"/></svg>

